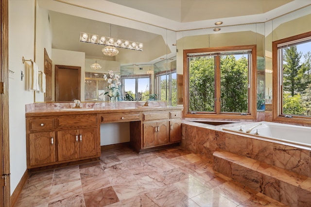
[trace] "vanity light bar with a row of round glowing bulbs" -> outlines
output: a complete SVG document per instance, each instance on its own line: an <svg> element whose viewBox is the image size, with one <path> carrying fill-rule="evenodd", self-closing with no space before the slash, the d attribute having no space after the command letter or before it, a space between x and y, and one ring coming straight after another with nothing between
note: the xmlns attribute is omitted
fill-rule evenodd
<svg viewBox="0 0 311 207"><path fill-rule="evenodd" d="M115 39L112 37L80 32L80 42L92 43L97 45L113 46L116 48L134 49L142 51L143 44L129 40Z"/></svg>

